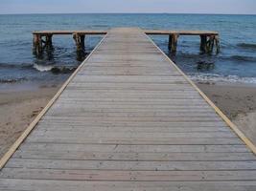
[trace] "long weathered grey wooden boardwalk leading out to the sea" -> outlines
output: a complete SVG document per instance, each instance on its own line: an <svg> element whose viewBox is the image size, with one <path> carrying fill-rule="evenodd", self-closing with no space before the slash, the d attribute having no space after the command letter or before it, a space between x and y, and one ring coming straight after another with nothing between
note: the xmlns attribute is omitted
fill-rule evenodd
<svg viewBox="0 0 256 191"><path fill-rule="evenodd" d="M256 190L256 157L139 29L113 29L0 172L1 191Z"/></svg>

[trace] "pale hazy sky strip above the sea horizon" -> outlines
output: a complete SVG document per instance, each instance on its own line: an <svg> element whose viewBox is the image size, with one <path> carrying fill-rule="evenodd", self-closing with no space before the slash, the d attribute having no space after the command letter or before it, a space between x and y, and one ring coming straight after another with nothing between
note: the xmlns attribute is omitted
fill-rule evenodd
<svg viewBox="0 0 256 191"><path fill-rule="evenodd" d="M0 13L170 12L256 14L256 0L0 0Z"/></svg>

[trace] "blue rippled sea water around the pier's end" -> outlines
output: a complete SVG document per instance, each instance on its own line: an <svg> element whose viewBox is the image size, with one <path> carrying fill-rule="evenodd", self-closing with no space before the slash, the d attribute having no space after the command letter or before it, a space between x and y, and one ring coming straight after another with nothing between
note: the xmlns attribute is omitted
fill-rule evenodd
<svg viewBox="0 0 256 191"><path fill-rule="evenodd" d="M54 51L33 54L33 31L107 30L140 27L160 30L209 30L221 34L221 53L201 54L198 36L181 36L177 53L168 36L151 36L193 79L256 83L256 15L211 14L20 14L0 15L0 83L65 80L81 63L72 36L54 36ZM86 38L89 53L102 36ZM206 64L199 64L199 63ZM58 73L56 70L59 69Z"/></svg>

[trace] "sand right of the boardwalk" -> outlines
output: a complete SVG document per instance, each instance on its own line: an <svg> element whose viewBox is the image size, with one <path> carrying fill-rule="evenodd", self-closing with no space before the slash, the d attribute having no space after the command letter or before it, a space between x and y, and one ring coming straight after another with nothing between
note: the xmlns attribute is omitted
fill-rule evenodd
<svg viewBox="0 0 256 191"><path fill-rule="evenodd" d="M256 145L256 86L198 83L198 87Z"/></svg>

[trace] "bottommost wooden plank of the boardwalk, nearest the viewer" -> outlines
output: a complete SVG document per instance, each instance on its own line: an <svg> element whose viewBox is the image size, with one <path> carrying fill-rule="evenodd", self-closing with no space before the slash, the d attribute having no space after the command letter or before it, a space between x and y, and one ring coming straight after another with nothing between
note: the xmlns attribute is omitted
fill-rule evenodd
<svg viewBox="0 0 256 191"><path fill-rule="evenodd" d="M137 190L137 191L198 191L207 188L207 191L248 191L255 190L256 181L78 181L78 180L13 180L0 179L0 189L6 191L19 186L20 190Z"/></svg>

